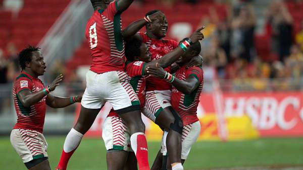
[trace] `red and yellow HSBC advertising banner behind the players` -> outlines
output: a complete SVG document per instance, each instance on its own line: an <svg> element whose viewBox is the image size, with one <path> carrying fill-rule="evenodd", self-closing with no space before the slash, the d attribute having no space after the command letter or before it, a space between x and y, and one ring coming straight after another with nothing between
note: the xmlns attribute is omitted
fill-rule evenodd
<svg viewBox="0 0 303 170"><path fill-rule="evenodd" d="M275 93L214 93L200 96L197 115L201 124L199 140L220 140L218 103L224 115L228 140L251 139L256 137L303 136L303 92ZM217 102L215 102L217 101ZM217 105L216 105L217 104ZM88 137L101 137L103 122L111 110L106 103L92 127ZM79 116L80 104L76 110L75 122ZM148 140L161 140L162 131L155 123L142 116ZM222 125L221 125L222 127Z"/></svg>

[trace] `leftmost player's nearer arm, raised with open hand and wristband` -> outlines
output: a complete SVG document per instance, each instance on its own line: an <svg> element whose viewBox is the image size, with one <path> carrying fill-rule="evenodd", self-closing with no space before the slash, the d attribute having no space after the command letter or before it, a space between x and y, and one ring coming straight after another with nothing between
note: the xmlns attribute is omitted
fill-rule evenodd
<svg viewBox="0 0 303 170"><path fill-rule="evenodd" d="M56 89L56 87L59 85L59 82L62 80L62 77L62 74L60 74L52 84L50 84L47 88L44 88L42 91L33 93L31 93L31 91L28 89L20 91L18 93L18 98L20 99L22 105L25 107L30 107L39 102L44 98L44 96L47 96L49 92L52 92Z"/></svg>

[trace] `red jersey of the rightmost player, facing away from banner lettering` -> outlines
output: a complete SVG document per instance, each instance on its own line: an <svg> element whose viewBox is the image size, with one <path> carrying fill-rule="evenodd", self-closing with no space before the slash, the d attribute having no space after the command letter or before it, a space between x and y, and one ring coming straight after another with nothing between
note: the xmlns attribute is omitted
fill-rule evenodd
<svg viewBox="0 0 303 170"><path fill-rule="evenodd" d="M199 81L199 86L191 94L185 95L179 92L175 87L172 89L171 104L173 109L181 116L183 126L198 121L197 107L199 97L203 89L203 70L200 67L182 66L175 74L180 80L185 80L189 76L194 76Z"/></svg>

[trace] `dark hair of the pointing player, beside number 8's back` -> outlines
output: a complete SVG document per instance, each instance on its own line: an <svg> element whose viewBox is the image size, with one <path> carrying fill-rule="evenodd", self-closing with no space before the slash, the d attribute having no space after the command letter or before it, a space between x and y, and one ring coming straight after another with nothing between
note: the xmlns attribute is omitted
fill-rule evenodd
<svg viewBox="0 0 303 170"><path fill-rule="evenodd" d="M140 56L141 45L142 45L142 41L135 37L125 41L125 56L128 61L134 61L135 57Z"/></svg>

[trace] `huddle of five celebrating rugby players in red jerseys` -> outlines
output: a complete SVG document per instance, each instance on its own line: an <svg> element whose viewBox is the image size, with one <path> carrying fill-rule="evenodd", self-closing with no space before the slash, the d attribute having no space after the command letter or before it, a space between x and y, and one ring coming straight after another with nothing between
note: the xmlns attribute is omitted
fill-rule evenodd
<svg viewBox="0 0 303 170"><path fill-rule="evenodd" d="M86 73L83 96L59 98L49 94L62 75L45 88L38 79L45 71L39 49L30 47L20 53L23 71L14 86L18 115L11 133L14 148L28 169L51 169L42 134L45 104L60 108L81 102L80 116L66 136L56 167L67 169L83 135L109 102L113 109L102 134L108 169L183 169L200 132L196 111L203 88L199 40L204 38L204 27L179 43L166 40L165 14L153 10L121 30L121 14L133 0L90 1L94 13L87 22L85 37L92 64ZM146 33L138 32L144 26ZM164 131L151 168L141 113Z"/></svg>

